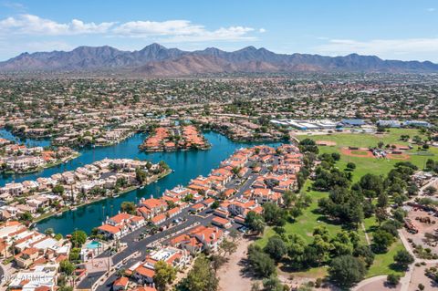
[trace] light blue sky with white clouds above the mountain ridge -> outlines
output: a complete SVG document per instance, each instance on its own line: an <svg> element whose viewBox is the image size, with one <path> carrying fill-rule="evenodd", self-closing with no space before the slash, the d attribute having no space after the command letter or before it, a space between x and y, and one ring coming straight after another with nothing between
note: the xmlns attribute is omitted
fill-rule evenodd
<svg viewBox="0 0 438 291"><path fill-rule="evenodd" d="M21 52L153 42L186 50L438 62L438 2L426 0L0 0L0 60Z"/></svg>

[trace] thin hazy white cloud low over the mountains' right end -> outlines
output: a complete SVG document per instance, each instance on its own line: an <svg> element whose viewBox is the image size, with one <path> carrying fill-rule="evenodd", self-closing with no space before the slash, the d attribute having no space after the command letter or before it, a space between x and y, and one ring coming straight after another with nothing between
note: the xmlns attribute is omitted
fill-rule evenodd
<svg viewBox="0 0 438 291"><path fill-rule="evenodd" d="M438 53L438 38L372 39L330 39L328 43L315 47L320 54L329 56L358 53L384 57L412 56Z"/></svg>

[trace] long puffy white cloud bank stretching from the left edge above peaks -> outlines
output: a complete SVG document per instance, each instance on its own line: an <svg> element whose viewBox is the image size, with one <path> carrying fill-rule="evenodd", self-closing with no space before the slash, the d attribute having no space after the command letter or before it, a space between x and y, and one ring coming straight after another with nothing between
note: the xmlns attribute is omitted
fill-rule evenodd
<svg viewBox="0 0 438 291"><path fill-rule="evenodd" d="M68 23L41 18L33 15L11 16L0 20L0 36L72 36L100 34L104 36L123 37L158 37L159 41L209 41L209 40L247 40L255 39L248 36L255 31L252 27L229 26L216 30L208 30L202 25L193 24L189 20L167 21L130 21L126 23L94 22L84 23L73 19ZM265 32L260 28L259 32Z"/></svg>

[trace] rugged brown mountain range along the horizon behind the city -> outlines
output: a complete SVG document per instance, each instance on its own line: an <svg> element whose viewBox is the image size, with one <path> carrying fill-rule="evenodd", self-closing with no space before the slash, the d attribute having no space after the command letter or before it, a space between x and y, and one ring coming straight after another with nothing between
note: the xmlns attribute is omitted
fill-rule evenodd
<svg viewBox="0 0 438 291"><path fill-rule="evenodd" d="M183 51L151 44L138 51L114 47L77 47L71 51L23 53L0 62L0 72L118 71L145 77L178 77L224 73L388 72L433 73L430 61L383 60L350 54L324 57L276 54L266 48L245 47L226 52L215 47Z"/></svg>

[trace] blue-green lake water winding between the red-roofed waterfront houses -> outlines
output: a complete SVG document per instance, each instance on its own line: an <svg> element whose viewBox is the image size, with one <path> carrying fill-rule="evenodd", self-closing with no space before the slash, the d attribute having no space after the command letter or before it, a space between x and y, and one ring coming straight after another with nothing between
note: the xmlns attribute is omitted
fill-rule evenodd
<svg viewBox="0 0 438 291"><path fill-rule="evenodd" d="M7 134L10 133L0 130L0 137L8 138ZM171 174L158 182L152 182L143 189L127 192L119 197L90 203L78 207L76 211L68 211L60 216L51 216L37 223L38 230L41 232L47 228L53 228L56 233L64 235L71 234L75 229L84 230L89 233L93 227L99 226L106 216L118 213L122 202L138 202L142 197L159 197L166 189L172 189L177 185L186 185L198 175L207 175L236 149L261 144L260 142L234 142L212 131L205 132L204 135L212 144L212 148L207 151L141 152L138 146L144 140L146 134L138 133L113 146L81 149L81 155L77 159L57 167L26 175L4 175L0 178L0 186L5 185L6 182L22 182L25 180L35 180L37 177L49 177L54 173L75 170L80 166L105 158L138 158L153 162L165 161L172 168L173 172ZM9 136L9 139L11 139L11 136ZM47 140L26 140L26 142L42 146L49 144ZM279 143L263 142L263 144L277 146Z"/></svg>

